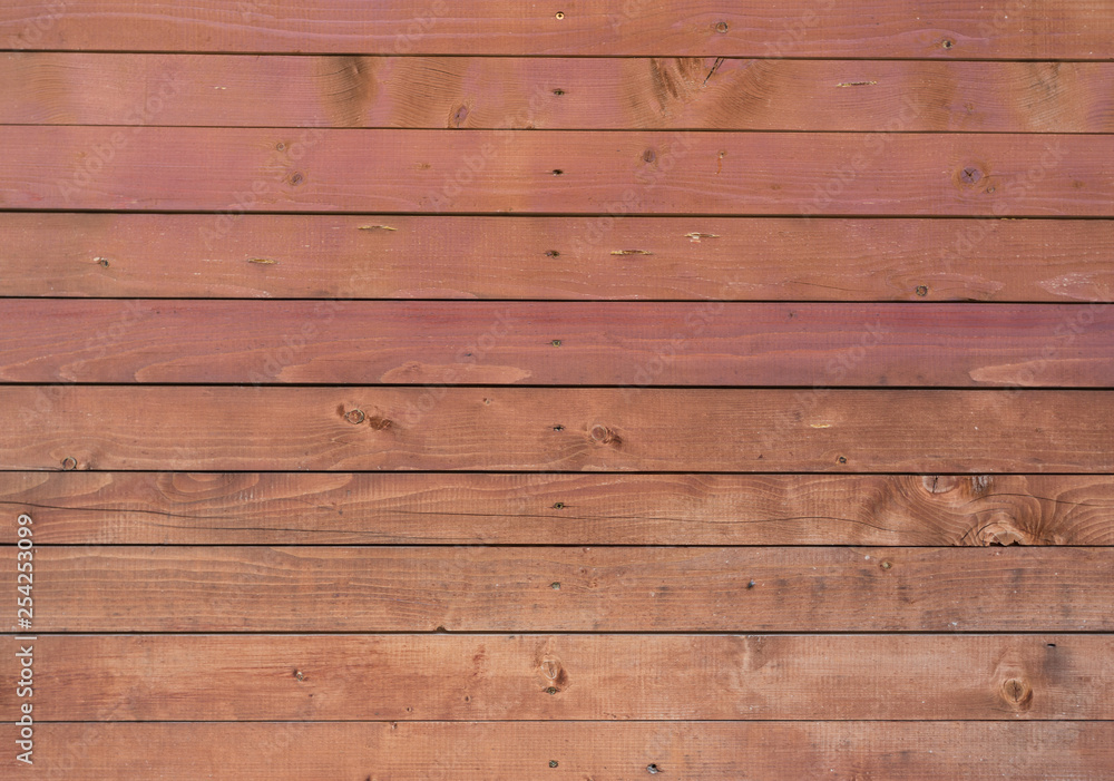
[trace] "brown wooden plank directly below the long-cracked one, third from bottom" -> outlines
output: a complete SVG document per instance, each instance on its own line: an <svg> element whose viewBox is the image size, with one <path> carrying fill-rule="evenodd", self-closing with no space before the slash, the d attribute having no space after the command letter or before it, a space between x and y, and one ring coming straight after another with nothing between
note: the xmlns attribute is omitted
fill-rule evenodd
<svg viewBox="0 0 1114 781"><path fill-rule="evenodd" d="M33 628L1110 632L1111 599L1105 548L43 546Z"/></svg>

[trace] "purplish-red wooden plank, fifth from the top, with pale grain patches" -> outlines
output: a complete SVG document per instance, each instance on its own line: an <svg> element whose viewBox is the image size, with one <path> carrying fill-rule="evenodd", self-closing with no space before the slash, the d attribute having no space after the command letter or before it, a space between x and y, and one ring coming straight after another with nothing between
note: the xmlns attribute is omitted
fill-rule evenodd
<svg viewBox="0 0 1114 781"><path fill-rule="evenodd" d="M0 320L4 382L1114 385L1110 305L7 299Z"/></svg>

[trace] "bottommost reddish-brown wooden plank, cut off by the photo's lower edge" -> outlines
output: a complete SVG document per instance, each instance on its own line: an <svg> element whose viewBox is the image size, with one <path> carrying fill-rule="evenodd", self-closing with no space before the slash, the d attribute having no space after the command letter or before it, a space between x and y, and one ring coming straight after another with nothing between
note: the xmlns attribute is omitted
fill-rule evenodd
<svg viewBox="0 0 1114 781"><path fill-rule="evenodd" d="M1114 763L1111 722L42 724L36 735L36 770L72 781L241 781L261 768L270 781L623 781L652 767L705 781L1105 781Z"/></svg>

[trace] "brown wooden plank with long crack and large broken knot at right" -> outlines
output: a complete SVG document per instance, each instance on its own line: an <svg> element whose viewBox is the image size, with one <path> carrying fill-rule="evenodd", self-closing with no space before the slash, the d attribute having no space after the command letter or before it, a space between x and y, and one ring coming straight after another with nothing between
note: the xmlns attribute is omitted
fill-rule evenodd
<svg viewBox="0 0 1114 781"><path fill-rule="evenodd" d="M0 472L0 505L38 545L1114 545L1110 476Z"/></svg>

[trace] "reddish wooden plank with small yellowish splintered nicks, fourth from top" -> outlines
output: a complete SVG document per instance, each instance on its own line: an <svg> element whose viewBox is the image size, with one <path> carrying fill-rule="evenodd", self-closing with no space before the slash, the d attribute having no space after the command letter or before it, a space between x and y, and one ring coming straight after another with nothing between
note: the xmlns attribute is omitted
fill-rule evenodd
<svg viewBox="0 0 1114 781"><path fill-rule="evenodd" d="M0 295L1112 301L1114 222L0 213Z"/></svg>

